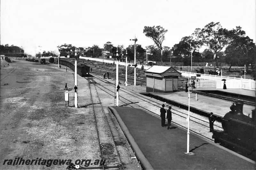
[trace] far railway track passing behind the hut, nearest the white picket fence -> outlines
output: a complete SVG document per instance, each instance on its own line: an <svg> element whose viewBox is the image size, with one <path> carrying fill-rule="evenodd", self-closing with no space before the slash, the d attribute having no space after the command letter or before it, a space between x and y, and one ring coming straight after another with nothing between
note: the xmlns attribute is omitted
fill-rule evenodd
<svg viewBox="0 0 256 170"><path fill-rule="evenodd" d="M95 73L97 75L103 75L104 72L106 72L106 71L101 71L101 70L93 70L92 71L92 73ZM110 77L114 77L114 78L116 77L115 73L109 73L109 75L110 75ZM125 75L119 74L118 78L121 79L122 81L124 81L125 80ZM127 81L128 81L128 83L133 84L134 77L127 76ZM146 80L143 79L143 78L137 78L136 83L138 85L146 85ZM182 88L179 88L179 90L185 91L185 89L182 89ZM193 90L193 91L196 92L197 94L201 94L201 95L204 95L204 96L214 97L214 98L217 98L217 99L222 99L222 100L227 100L227 101L232 101L232 102L235 102L236 100L240 100L240 99L234 99L232 97L228 97L228 96L220 95L220 94L205 93L205 92L200 92L200 91L196 91L196 90ZM255 105L255 102L251 102L251 101L247 101L247 100L241 100L241 101L244 101L244 104L246 104L246 105L250 105L250 106Z"/></svg>

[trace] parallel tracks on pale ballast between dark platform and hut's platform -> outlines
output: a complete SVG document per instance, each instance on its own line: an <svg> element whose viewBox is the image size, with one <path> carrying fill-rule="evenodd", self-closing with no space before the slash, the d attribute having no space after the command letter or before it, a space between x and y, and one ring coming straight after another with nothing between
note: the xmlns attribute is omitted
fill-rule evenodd
<svg viewBox="0 0 256 170"><path fill-rule="evenodd" d="M100 88L102 91L108 93L109 95L115 97L115 85L106 81L106 80L102 80L102 78L95 76L94 79L97 79L98 83L96 84L98 88ZM99 82L100 81L100 82ZM102 83L101 83L102 82ZM104 85L102 85L104 84ZM106 87L107 86L107 87ZM109 88L109 86L111 86L111 88ZM112 88L113 87L113 88ZM113 89L110 90L110 89ZM156 114L156 112L158 113L161 105L163 104L163 102L159 102L158 100L155 99L148 99L147 97L134 93L132 91L129 90L125 90L125 89L120 89L119 90L119 101L123 102L123 106L130 106L130 107L134 107L134 108L142 108L144 110L147 110L148 112L150 112L153 115L159 116L159 114ZM129 95L130 99L127 99L127 95ZM139 103L139 104L138 104ZM171 104L169 104L171 105ZM122 104L120 103L120 106L122 106ZM187 122L186 122L186 118L188 116L188 111L184 110L184 109L180 109L179 107L175 107L172 106L172 113L173 113L173 121L175 124L183 127L183 128L187 128ZM180 119L182 119L180 121ZM179 121L176 121L179 120ZM205 128L209 128L209 121L208 118L204 117L204 116L200 116L194 113L190 113L190 121L191 121L191 131L207 138L208 140L212 140L212 134L207 134L205 135L205 131L202 133L202 131L200 132L199 129L204 129ZM222 130L221 128L221 124L220 122L217 122L214 124L214 128L215 129L219 129Z"/></svg>

